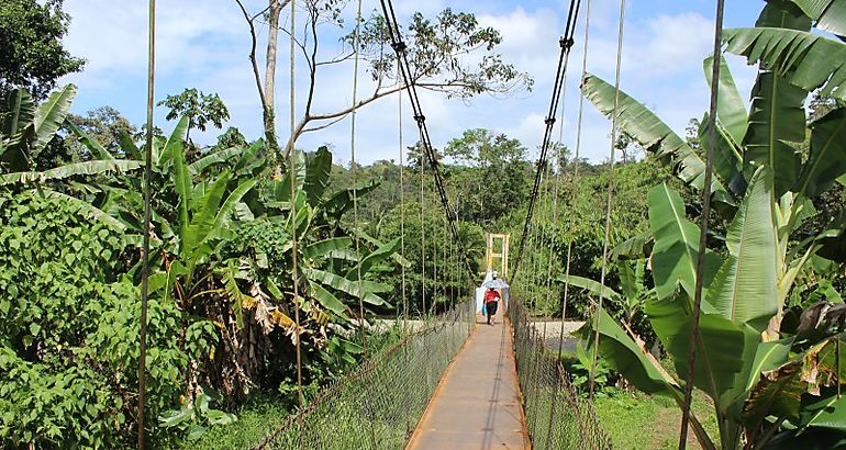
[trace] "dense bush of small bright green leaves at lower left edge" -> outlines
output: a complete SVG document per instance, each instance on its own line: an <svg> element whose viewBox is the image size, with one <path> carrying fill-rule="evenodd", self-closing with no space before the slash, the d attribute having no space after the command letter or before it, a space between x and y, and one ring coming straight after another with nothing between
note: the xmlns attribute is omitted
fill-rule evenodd
<svg viewBox="0 0 846 450"><path fill-rule="evenodd" d="M74 203L2 196L0 442L118 447L137 392L140 300L116 282L124 240ZM208 357L210 323L191 325L188 355L172 339L186 317L149 303L149 410L172 406L190 359Z"/></svg>

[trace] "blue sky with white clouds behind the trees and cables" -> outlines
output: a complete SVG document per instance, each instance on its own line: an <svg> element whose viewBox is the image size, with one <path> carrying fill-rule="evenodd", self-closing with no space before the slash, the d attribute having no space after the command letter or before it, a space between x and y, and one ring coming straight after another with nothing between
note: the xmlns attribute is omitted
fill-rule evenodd
<svg viewBox="0 0 846 450"><path fill-rule="evenodd" d="M378 8L378 1L364 0L365 10ZM583 3L587 0L583 0ZM133 123L144 122L146 99L146 1L73 0L65 2L73 16L66 38L68 49L88 59L85 71L65 77L80 91L74 112L111 105ZM246 1L254 10L263 1ZM628 0L624 32L622 89L653 109L678 133L683 133L691 117L706 109L708 90L702 58L712 46L713 0ZM394 0L404 22L414 11L434 16L445 7L472 12L480 23L499 29L504 42L498 47L504 58L535 80L532 92L510 98L482 95L469 104L423 95L433 144L443 147L464 130L486 127L516 137L534 155L543 137L544 114L548 109L558 53L569 1L563 0ZM725 26L752 26L764 1L727 0ZM227 125L237 126L247 138L260 136L261 113L255 82L247 60L249 35L234 0L158 0L158 57L156 98L194 87L218 92L230 108ZM616 25L620 3L592 0L588 70L613 82ZM354 13L354 2L347 15ZM583 15L583 14L582 14ZM564 110L563 140L574 147L578 105L578 72L581 66L583 16L577 30L577 44L570 59ZM264 37L263 34L259 38ZM280 138L287 137L288 53L287 38L280 45L277 102ZM263 41L259 46L263 46ZM335 35L321 42L326 52L339 50ZM748 97L755 68L741 58L728 57L741 94ZM304 67L302 60L298 61ZM304 97L305 78L296 78L297 97ZM335 111L349 104L353 82L352 63L327 70L319 77L318 112ZM363 76L359 92L372 86ZM298 111L302 104L297 103ZM403 134L415 135L407 102L403 104ZM166 110L156 110L157 125L169 130ZM388 97L361 109L358 114L357 158L364 162L398 159L398 99ZM610 122L587 104L582 132L582 156L598 161L606 158ZM333 144L336 158L349 160L349 121L304 135L300 148ZM557 131L556 131L557 133ZM192 134L201 143L213 143L218 131ZM407 143L410 144L410 143Z"/></svg>

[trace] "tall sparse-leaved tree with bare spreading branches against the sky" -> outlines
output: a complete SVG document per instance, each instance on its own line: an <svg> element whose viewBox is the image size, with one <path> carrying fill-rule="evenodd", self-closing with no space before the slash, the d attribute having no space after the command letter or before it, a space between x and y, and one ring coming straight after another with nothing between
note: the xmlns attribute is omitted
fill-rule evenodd
<svg viewBox="0 0 846 450"><path fill-rule="evenodd" d="M353 112L352 104L335 111L314 111L316 97L324 91L319 83L319 72L348 63L355 55L355 36L342 18L348 0L298 2L303 20L296 31L290 29L290 24L282 27L279 25L279 15L290 0L268 0L267 7L256 13L248 11L242 0L235 2L244 14L252 36L249 59L264 110L265 137L269 142L276 136L274 80L279 30L288 35L293 33L294 45L300 53L298 57L304 59L309 82L304 109L287 146L290 147L303 133L326 128ZM269 27L264 82L257 59L259 21ZM324 59L325 52L320 52L320 46L327 42L324 30L335 35L338 29L341 33L348 33L342 40L343 47L331 52L334 56ZM470 100L481 93L510 94L532 88L533 80L527 74L520 72L494 52L496 46L502 43L499 31L481 26L474 14L445 9L437 18L427 19L421 13L414 13L402 32L402 38L409 46L407 52L411 81L421 89L441 92L448 98ZM375 86L369 93L360 97L355 108L405 89L405 85L397 77L397 58L390 48L388 27L380 14L374 14L360 23L358 50Z"/></svg>

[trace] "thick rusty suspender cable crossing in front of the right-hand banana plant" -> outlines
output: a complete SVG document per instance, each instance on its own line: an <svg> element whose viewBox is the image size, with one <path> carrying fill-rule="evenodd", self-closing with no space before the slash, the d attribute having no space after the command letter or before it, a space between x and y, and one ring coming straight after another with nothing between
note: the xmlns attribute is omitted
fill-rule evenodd
<svg viewBox="0 0 846 450"><path fill-rule="evenodd" d="M705 246L708 245L708 216L711 212L711 177L713 176L714 147L716 146L716 105L720 86L720 45L723 41L724 0L716 0L716 19L714 21L714 61L711 67L711 104L709 108L708 149L705 150L705 179L702 187L701 233L699 234L699 255L697 255L697 283L693 292L693 312L690 319L690 352L688 353L688 376L684 381L684 404L681 408L681 431L679 432L679 449L684 449L688 440L688 423L690 421L690 402L693 395L693 367L697 360L699 340L699 313L702 305L702 282L705 266Z"/></svg>

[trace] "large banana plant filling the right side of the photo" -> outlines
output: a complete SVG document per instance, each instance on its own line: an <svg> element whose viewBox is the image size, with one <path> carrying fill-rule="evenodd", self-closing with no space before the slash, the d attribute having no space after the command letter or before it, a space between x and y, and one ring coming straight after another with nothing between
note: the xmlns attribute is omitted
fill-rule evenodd
<svg viewBox="0 0 846 450"><path fill-rule="evenodd" d="M835 109L808 125L803 109L810 89L822 86L834 94L844 79L832 68L834 61L824 64L836 59L828 47L843 44L832 40L820 44L825 37L809 37L811 19L822 23L825 15L827 30L839 30L832 24L846 18L833 13L809 18L811 3L820 2L769 1L755 29L727 32L730 52L761 61L748 112L724 61L721 79L708 79L717 82L720 101L716 116L703 120L706 126L700 137L709 145L704 132L708 125L715 126L712 190L731 224L725 248L703 249L702 315L692 341L700 230L686 217L678 193L666 185L649 192L654 241L649 261L656 296L646 302L645 311L679 379L667 380L643 346L610 317L602 316L599 330L590 330L590 325L582 330L601 335L600 353L633 384L677 402L674 389L687 378L687 355L695 346L693 383L714 403L719 442L725 449L762 448L771 440L795 446L810 436L841 431L846 424L843 416L833 414L839 410L836 392L844 375L836 362L843 315L831 318L834 326L824 326L824 317L799 325L782 320L787 299L798 279L809 278L812 261L820 257L846 261L843 214L822 229L799 234L800 226L816 214L812 200L846 175L846 110ZM813 46L820 47L811 52ZM820 52L823 48L826 53ZM813 61L827 75L811 82L805 77L811 67L816 70ZM610 85L588 76L582 89L600 111L613 113ZM616 119L622 130L675 165L683 181L702 189L704 165L698 153L622 92L620 105ZM795 143L805 138L806 128L810 150L805 156ZM703 447L715 447L695 423L693 429Z"/></svg>

